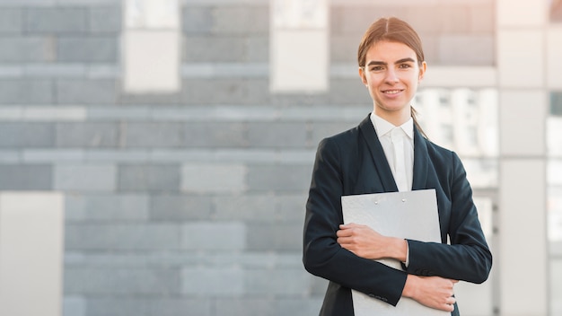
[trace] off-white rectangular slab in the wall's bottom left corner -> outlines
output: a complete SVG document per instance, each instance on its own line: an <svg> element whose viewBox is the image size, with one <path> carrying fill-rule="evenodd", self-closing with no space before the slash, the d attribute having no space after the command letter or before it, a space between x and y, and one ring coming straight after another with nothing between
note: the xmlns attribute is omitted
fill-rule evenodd
<svg viewBox="0 0 562 316"><path fill-rule="evenodd" d="M0 192L0 315L60 316L64 198Z"/></svg>

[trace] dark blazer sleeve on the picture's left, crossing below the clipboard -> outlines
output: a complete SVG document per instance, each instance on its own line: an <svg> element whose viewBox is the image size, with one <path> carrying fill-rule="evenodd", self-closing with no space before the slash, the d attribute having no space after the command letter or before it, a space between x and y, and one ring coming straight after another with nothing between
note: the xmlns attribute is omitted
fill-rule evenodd
<svg viewBox="0 0 562 316"><path fill-rule="evenodd" d="M338 143L321 141L312 170L303 232L303 264L307 271L350 289L396 305L406 283L404 271L357 257L337 242L343 224L341 153Z"/></svg>

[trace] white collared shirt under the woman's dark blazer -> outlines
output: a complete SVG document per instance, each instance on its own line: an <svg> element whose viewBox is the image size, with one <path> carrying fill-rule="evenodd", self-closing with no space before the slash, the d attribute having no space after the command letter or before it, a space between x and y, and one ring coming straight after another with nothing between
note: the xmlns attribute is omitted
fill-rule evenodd
<svg viewBox="0 0 562 316"><path fill-rule="evenodd" d="M395 127L372 112L371 121L398 190L410 191L414 177L414 120L409 118L400 127Z"/></svg>

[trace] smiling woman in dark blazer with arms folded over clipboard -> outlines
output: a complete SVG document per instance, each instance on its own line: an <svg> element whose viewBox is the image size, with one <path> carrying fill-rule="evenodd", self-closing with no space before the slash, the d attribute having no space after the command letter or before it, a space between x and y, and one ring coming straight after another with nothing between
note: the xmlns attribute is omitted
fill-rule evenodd
<svg viewBox="0 0 562 316"><path fill-rule="evenodd" d="M421 40L408 23L380 19L361 40L358 64L373 112L321 141L306 204L304 267L329 280L320 314L353 315L355 289L391 305L404 296L459 315L453 286L484 282L492 255L459 157L426 139L410 106L426 73ZM435 189L442 243L343 224L342 196L417 189ZM400 260L404 271L373 261L383 258Z"/></svg>

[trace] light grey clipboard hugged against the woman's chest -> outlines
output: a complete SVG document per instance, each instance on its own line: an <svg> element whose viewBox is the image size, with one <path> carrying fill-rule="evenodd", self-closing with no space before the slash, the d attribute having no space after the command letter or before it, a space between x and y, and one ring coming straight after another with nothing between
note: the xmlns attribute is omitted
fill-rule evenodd
<svg viewBox="0 0 562 316"><path fill-rule="evenodd" d="M441 242L435 189L386 192L341 197L344 223L367 225L386 236L417 241ZM398 260L377 260L402 269ZM416 301L402 297L396 307L352 290L356 316L449 316Z"/></svg>

